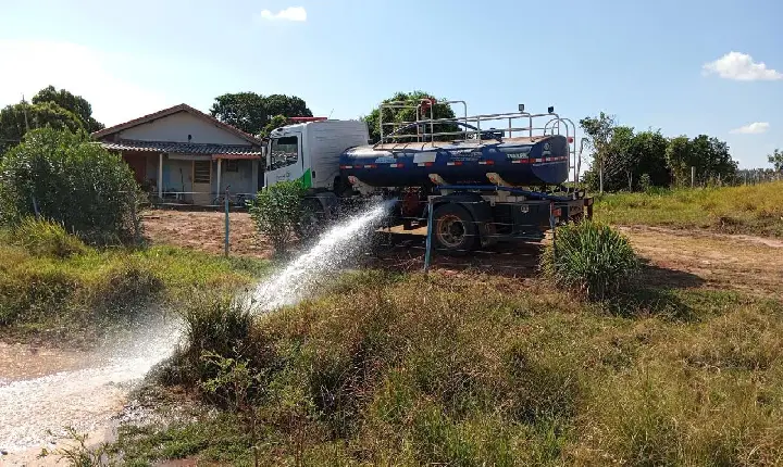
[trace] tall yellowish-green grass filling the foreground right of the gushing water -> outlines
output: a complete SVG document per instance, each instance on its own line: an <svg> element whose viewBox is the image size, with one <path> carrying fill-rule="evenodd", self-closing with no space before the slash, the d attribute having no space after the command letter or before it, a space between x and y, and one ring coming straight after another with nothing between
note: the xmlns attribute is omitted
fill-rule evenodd
<svg viewBox="0 0 783 467"><path fill-rule="evenodd" d="M780 463L783 305L633 293L644 306L618 313L492 276L355 273L253 318L227 353L262 381L262 465ZM210 377L178 383L198 394ZM117 447L130 465L250 465L245 421L216 414L133 431Z"/></svg>

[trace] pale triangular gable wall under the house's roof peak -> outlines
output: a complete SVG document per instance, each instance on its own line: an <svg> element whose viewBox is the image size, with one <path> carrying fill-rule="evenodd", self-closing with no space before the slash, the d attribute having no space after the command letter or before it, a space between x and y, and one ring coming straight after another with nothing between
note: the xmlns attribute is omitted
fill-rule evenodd
<svg viewBox="0 0 783 467"><path fill-rule="evenodd" d="M188 141L188 135L191 139ZM120 131L122 139L213 144L245 144L248 141L187 112L177 112Z"/></svg>

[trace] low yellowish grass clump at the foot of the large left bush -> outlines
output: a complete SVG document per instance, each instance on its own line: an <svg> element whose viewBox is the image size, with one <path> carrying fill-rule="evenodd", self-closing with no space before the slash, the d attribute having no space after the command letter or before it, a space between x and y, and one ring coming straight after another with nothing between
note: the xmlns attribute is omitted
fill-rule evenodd
<svg viewBox="0 0 783 467"><path fill-rule="evenodd" d="M87 251L82 240L65 231L62 224L33 217L22 219L11 240L34 256L65 258Z"/></svg>

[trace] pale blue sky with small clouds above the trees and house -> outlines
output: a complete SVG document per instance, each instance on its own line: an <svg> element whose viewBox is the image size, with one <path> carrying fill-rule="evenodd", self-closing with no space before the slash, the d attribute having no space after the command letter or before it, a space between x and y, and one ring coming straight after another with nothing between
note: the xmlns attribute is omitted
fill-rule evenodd
<svg viewBox="0 0 783 467"><path fill-rule="evenodd" d="M355 118L422 89L472 113L555 105L705 132L745 167L783 147L775 0L0 0L0 104L51 83L110 125L244 90Z"/></svg>

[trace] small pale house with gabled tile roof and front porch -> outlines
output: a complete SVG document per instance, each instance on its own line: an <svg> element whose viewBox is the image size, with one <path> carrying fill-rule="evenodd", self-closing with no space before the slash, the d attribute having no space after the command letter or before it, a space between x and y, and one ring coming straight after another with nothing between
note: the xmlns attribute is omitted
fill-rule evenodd
<svg viewBox="0 0 783 467"><path fill-rule="evenodd" d="M226 187L232 194L254 195L263 185L261 140L186 104L92 137L120 152L137 181L161 199L209 205Z"/></svg>

